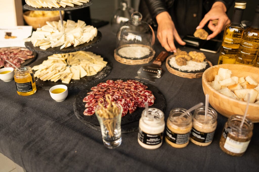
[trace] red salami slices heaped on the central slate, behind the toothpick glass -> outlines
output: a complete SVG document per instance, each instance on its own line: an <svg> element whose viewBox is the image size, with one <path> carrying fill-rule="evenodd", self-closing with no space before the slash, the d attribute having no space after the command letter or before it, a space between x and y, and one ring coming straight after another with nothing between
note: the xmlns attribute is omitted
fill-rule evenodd
<svg viewBox="0 0 259 172"><path fill-rule="evenodd" d="M155 101L155 96L152 91L147 90L147 86L137 80L107 80L106 83L99 83L97 86L91 88L84 97L85 103L84 115L92 115L95 113L98 100L100 98L106 99L105 95L110 94L112 101L118 103L123 108L122 117L128 111L133 113L137 107L145 108L145 102L148 106L152 106Z"/></svg>

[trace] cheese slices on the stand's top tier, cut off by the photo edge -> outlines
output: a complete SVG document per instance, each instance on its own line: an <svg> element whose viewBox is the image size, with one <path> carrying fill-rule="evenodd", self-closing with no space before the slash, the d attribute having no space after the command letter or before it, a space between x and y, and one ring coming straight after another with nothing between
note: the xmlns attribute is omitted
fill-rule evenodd
<svg viewBox="0 0 259 172"><path fill-rule="evenodd" d="M75 5L83 5L83 3L88 3L89 0L25 0L26 4L34 8L59 8Z"/></svg>

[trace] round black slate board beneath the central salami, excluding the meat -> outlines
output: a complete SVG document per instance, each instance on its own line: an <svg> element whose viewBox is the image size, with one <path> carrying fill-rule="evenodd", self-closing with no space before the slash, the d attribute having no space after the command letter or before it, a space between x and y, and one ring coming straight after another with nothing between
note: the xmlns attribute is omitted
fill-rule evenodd
<svg viewBox="0 0 259 172"><path fill-rule="evenodd" d="M127 81L128 79L125 78L112 78L111 80L117 80L117 79L122 79L123 81ZM102 82L106 82L106 80L102 80L98 83L102 83ZM136 80L136 79L135 79ZM137 80L140 81L140 80ZM164 99L164 96L162 95L162 93L159 91L159 89L157 89L155 86L145 83L143 81L140 81L141 83L145 84L146 86L148 86L147 90L150 90L153 92L154 96L155 96L155 102L152 106L150 106L149 108L157 108L160 109L162 111L166 110L166 101ZM97 84L98 84L97 83ZM83 102L83 99L85 96L87 96L87 92L91 91L91 88L93 86L96 86L97 84L93 84L91 86L88 86L86 88L84 88L81 92L79 92L77 94L77 96L75 97L75 101L74 101L74 111L75 111L75 115L76 117L83 122L83 124L85 124L86 126L96 129L96 130L101 130L100 129L100 124L99 121L97 119L97 117L95 116L95 114L93 114L92 116L85 116L83 114L85 108L85 102ZM122 133L130 133L130 132L134 132L134 131L138 131L139 128L139 119L141 117L142 111L145 108L137 108L135 112L133 112L132 114L130 114L129 112L121 118L121 132Z"/></svg>

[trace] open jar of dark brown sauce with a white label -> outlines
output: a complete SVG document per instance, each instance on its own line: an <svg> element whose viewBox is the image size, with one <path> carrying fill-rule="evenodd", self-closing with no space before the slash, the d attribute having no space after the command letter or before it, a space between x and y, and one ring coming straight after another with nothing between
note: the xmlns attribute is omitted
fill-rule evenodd
<svg viewBox="0 0 259 172"><path fill-rule="evenodd" d="M242 118L242 115L230 116L219 141L220 149L232 156L242 156L253 135L254 124L248 118L244 120L240 128Z"/></svg>

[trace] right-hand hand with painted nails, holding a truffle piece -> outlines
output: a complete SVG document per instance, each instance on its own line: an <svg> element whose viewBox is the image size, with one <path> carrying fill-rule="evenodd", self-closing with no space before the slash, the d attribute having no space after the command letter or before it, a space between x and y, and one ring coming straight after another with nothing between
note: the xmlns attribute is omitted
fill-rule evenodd
<svg viewBox="0 0 259 172"><path fill-rule="evenodd" d="M210 21L208 23L208 28L213 31L212 34L208 35L207 40L214 38L215 36L217 36L222 30L224 30L226 28L226 26L228 25L228 23L230 23L230 20L226 14L227 8L224 5L224 3L222 2L215 2L210 11L205 14L204 18L202 19L202 21L200 21L199 26L196 29L200 29L203 28L205 26L205 24ZM218 24L217 26L215 26L212 23L212 20L218 19Z"/></svg>

